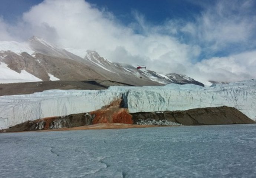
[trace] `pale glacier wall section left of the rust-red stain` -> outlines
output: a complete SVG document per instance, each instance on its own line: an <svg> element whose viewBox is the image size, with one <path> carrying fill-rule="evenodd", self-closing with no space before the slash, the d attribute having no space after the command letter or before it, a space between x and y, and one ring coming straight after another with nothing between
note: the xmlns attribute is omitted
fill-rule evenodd
<svg viewBox="0 0 256 178"><path fill-rule="evenodd" d="M46 90L0 96L0 129L29 120L89 112L121 98L111 90Z"/></svg>

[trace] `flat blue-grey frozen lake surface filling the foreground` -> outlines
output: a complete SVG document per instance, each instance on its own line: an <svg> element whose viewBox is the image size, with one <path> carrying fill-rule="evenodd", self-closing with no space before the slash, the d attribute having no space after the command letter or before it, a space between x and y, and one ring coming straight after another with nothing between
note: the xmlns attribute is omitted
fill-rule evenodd
<svg viewBox="0 0 256 178"><path fill-rule="evenodd" d="M256 177L256 125L0 133L0 177Z"/></svg>

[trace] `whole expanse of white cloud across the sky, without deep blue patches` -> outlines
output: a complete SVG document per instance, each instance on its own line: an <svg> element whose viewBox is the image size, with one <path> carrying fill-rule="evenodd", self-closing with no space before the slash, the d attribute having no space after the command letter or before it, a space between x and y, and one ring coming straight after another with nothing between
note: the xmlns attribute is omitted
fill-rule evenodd
<svg viewBox="0 0 256 178"><path fill-rule="evenodd" d="M124 26L114 14L84 0L45 0L24 13L16 26L0 18L0 40L35 35L80 56L87 49L96 50L114 62L147 65L157 72L181 73L201 81L256 78L255 52L244 50L253 43L256 30L254 1L217 2L204 5L194 22L170 19L154 26L133 11L134 22ZM240 44L239 55L232 54L233 44ZM232 53L197 62L202 53L223 50Z"/></svg>

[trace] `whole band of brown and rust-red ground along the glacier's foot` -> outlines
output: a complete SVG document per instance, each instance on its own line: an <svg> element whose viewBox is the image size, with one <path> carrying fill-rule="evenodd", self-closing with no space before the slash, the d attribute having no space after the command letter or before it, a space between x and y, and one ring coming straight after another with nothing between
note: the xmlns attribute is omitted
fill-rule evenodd
<svg viewBox="0 0 256 178"><path fill-rule="evenodd" d="M140 124L142 121L149 120L170 121L183 125L256 123L237 109L227 106L198 108L187 111L144 112L130 114L126 108L119 108L120 105L122 105L121 100L116 100L109 106L104 106L102 109L97 111L27 121L10 127L9 129L4 130L4 132L72 128L99 123Z"/></svg>

